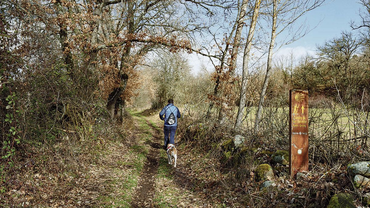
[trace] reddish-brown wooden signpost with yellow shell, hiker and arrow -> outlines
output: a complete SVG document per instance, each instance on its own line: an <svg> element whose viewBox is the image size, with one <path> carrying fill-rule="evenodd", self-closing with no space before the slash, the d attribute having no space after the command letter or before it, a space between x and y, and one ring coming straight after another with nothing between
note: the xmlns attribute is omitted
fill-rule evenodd
<svg viewBox="0 0 370 208"><path fill-rule="evenodd" d="M308 91L289 91L289 173L308 171Z"/></svg>

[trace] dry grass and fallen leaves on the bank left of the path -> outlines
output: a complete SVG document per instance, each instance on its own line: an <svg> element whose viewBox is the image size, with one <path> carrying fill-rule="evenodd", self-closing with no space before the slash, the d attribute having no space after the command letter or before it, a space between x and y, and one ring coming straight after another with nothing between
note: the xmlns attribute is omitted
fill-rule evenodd
<svg viewBox="0 0 370 208"><path fill-rule="evenodd" d="M86 140L81 140L77 133L63 131L53 142L24 140L17 160L13 160L14 167L4 172L6 180L2 186L6 192L1 194L1 204L74 207L92 203L106 191L105 186L100 186L101 181L110 180L114 184L114 178L121 177L114 169L105 168L112 165L108 156L128 148L125 139L133 124L130 116L125 121L122 125L95 125ZM91 180L96 183L94 187L85 187Z"/></svg>

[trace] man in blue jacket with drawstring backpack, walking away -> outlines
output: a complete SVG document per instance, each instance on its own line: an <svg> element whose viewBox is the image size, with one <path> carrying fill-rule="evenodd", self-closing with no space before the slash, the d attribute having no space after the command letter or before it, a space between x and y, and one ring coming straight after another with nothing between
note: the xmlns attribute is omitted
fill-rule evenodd
<svg viewBox="0 0 370 208"><path fill-rule="evenodd" d="M164 115L164 117L163 117ZM180 118L181 114L179 109L174 105L174 100L169 99L168 104L159 113L159 118L164 121L164 149L168 144L175 144L175 132L177 128L177 118ZM168 139L169 135L169 139Z"/></svg>

